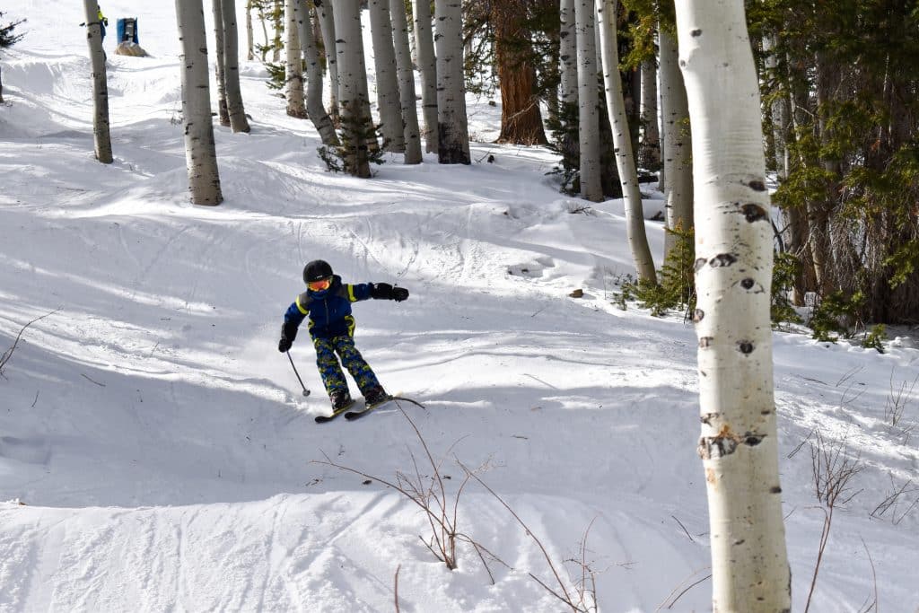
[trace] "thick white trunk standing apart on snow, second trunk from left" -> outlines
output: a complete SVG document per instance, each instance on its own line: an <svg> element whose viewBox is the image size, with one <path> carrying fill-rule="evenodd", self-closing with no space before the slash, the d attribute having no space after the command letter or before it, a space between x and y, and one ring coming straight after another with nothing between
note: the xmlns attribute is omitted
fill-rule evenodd
<svg viewBox="0 0 919 613"><path fill-rule="evenodd" d="M176 0L178 38L182 43L182 119L188 193L193 204L217 205L223 200L221 177L214 150L214 126L210 119L208 42L201 0Z"/></svg>

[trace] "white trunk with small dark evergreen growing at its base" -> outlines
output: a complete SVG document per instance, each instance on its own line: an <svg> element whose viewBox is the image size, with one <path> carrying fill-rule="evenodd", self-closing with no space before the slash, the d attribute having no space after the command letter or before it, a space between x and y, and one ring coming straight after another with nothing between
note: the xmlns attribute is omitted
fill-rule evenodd
<svg viewBox="0 0 919 613"><path fill-rule="evenodd" d="M367 67L361 35L359 0L335 3L335 52L338 80L341 85L338 102L342 119L342 142L349 148L348 165L355 176L369 177L368 149L376 148L376 139L368 142L362 134L372 131L370 103L367 94Z"/></svg>

